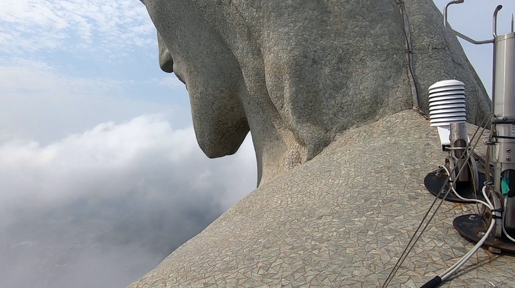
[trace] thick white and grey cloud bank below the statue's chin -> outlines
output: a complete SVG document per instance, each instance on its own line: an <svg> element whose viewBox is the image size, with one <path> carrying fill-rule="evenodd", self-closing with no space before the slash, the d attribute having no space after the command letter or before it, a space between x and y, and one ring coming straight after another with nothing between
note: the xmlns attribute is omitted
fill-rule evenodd
<svg viewBox="0 0 515 288"><path fill-rule="evenodd" d="M144 115L46 146L5 143L0 286L135 280L253 190L248 140L234 156L207 159L192 128Z"/></svg>

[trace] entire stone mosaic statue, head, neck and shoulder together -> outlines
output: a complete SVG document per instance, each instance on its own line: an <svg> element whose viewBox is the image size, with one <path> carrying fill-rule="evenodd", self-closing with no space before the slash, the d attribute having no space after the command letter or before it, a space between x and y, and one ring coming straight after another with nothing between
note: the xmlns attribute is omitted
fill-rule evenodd
<svg viewBox="0 0 515 288"><path fill-rule="evenodd" d="M161 68L190 94L199 146L232 154L251 131L259 188L132 287L380 286L433 200L423 177L444 158L420 115L428 86L459 79L469 122L490 112L433 2L142 2ZM447 232L425 238L397 286L462 255L469 244L449 219L472 206L458 207L443 205L435 221ZM514 262L499 261L479 271L503 286ZM477 275L453 283L485 285Z"/></svg>

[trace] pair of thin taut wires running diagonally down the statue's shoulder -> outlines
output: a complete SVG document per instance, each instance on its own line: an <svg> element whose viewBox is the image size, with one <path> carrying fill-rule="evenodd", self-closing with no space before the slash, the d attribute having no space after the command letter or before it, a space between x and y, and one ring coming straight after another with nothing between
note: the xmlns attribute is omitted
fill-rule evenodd
<svg viewBox="0 0 515 288"><path fill-rule="evenodd" d="M479 131L480 128L483 128L483 130L481 131L479 137L477 138L474 146L472 147L471 150L474 150L475 147L477 146L477 143L479 142L479 138L483 135L483 132L485 131L486 129L486 125L488 123L488 121L493 117L493 114L490 113L488 114L484 119L483 121L481 122L482 125L481 126L478 126L476 131L474 132L474 134L472 135L472 140L471 142L469 142L469 144L467 145L467 149L470 148L471 146L471 143L473 142L473 140L476 138L476 135L477 135L477 132ZM465 161L468 161L469 158L471 157L472 153L468 153ZM458 170L458 175L460 175L460 173L463 171L465 166L462 166L459 170ZM452 172L454 172L454 170L456 169L456 166L452 169ZM448 176L448 179L447 181L449 181L451 175L449 174ZM454 179L453 183L451 184L451 187L456 183L457 181L457 178ZM385 288L388 286L388 284L391 282L391 280L393 279L393 277L395 276L395 274L397 273L397 271L399 270L399 268L401 267L402 263L404 262L404 260L406 259L407 255L409 254L409 252L411 251L411 249L413 249L415 247L415 244L418 242L418 240L420 239L420 237L422 236L422 233L425 231L425 229L427 228L427 226L429 225L429 223L431 223L431 220L433 220L436 212L438 211L438 209L440 208L440 206L443 204L443 201L445 198L447 198L447 196L449 195L449 193L451 192L451 187L449 189L447 189L447 192L445 192L445 195L441 198L440 200L440 203L438 204L438 206L436 207L435 211L433 212L433 214L431 215L430 219L427 221L426 225L422 228L421 232L419 233L418 237L415 239L415 237L417 236L417 233L420 231L420 228L422 227L422 224L424 223L424 221L426 220L427 218L427 215L429 215L429 213L431 212L431 209L433 209L437 199L439 198L439 196L441 195L441 193L443 192L443 187L440 188L440 191L438 192L438 195L435 197L435 200L433 201L433 203L431 204L431 206L429 207L429 209L427 209L427 212L424 214L424 217L422 218L422 221L420 222L419 226L417 227L417 229L415 230L415 232L413 233L413 236L411 237L411 239L409 240L408 244L406 245L406 247L404 248L404 250L402 251L402 254L401 256L399 257L399 259L397 260L397 263L393 266L392 268L392 271L390 272L390 274L388 275L388 277L386 278L385 282L383 283L382 287ZM415 239L415 241L414 241ZM414 242L413 242L414 241ZM413 245L412 245L412 242L413 242ZM411 247L410 247L411 246Z"/></svg>

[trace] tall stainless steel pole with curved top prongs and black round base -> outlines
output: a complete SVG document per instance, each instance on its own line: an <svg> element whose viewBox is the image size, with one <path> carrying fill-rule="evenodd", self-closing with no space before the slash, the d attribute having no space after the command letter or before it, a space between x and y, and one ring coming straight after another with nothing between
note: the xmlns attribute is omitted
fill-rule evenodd
<svg viewBox="0 0 515 288"><path fill-rule="evenodd" d="M493 43L493 87L492 87L492 145L489 161L494 166L493 183L489 184L494 211L484 215L463 215L453 222L454 227L464 238L479 241L480 233L486 230L485 222L496 222L495 233L484 243L492 251L515 251L515 242L506 235L515 238L515 33L513 32L513 14L511 15L511 32L497 35L497 13L503 8L495 8L492 17L493 39L476 41L453 30L447 21L449 6L463 3L453 0L445 5L443 24L458 37L472 44ZM452 131L451 131L452 134ZM486 173L490 173L486 167ZM485 183L487 184L487 183ZM493 185L493 187L490 187ZM502 215L502 219L500 218ZM485 221L478 221L484 219ZM504 226L503 226L504 225ZM499 227L501 226L501 227ZM503 229L500 229L503 228ZM501 233L501 230L503 232Z"/></svg>

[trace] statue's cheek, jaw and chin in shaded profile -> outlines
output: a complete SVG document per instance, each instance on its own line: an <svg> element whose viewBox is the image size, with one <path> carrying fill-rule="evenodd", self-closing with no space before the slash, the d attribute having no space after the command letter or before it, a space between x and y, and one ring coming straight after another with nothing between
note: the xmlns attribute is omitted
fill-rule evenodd
<svg viewBox="0 0 515 288"><path fill-rule="evenodd" d="M200 148L210 158L234 154L249 132L238 62L190 3L144 4L158 30L161 69L188 89Z"/></svg>

